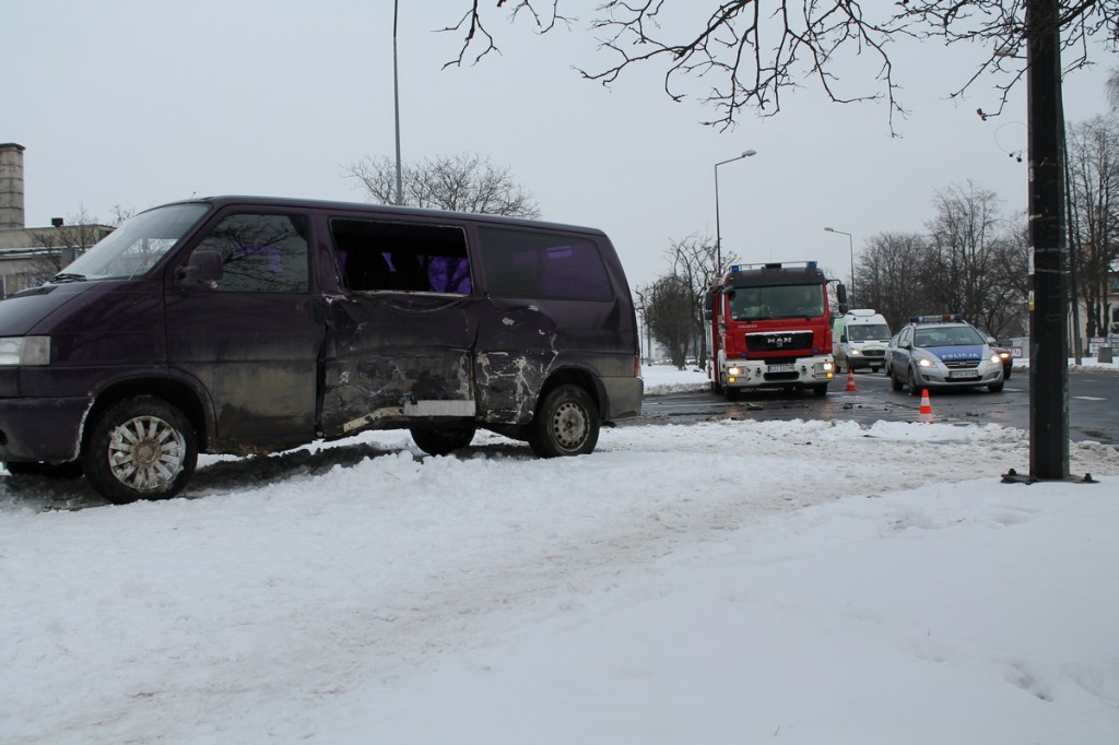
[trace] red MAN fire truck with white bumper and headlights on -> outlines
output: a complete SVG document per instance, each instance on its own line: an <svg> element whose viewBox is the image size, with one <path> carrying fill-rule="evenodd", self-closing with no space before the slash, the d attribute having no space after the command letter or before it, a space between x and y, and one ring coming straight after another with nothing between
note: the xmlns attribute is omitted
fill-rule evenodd
<svg viewBox="0 0 1119 745"><path fill-rule="evenodd" d="M704 299L707 376L715 393L803 389L835 378L828 279L816 262L731 266ZM840 313L847 292L836 287Z"/></svg>

